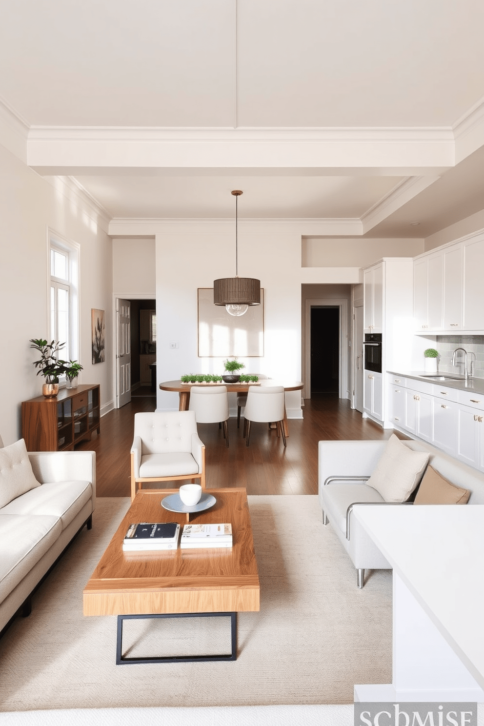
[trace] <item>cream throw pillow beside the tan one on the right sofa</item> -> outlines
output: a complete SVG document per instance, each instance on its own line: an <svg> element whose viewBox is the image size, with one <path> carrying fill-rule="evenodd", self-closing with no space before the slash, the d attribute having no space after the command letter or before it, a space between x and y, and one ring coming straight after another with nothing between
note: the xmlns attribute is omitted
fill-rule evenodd
<svg viewBox="0 0 484 726"><path fill-rule="evenodd" d="M412 451L393 433L366 484L385 502L405 502L422 479L428 460L428 452Z"/></svg>

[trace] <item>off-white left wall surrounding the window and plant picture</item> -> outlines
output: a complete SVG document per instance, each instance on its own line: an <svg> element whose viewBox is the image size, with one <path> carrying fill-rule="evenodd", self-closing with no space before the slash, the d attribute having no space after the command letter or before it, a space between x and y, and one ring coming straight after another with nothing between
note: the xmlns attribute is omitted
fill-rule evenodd
<svg viewBox="0 0 484 726"><path fill-rule="evenodd" d="M81 245L81 383L99 383L112 406L112 244L107 220L67 180L42 179L0 145L0 432L21 436L20 404L41 394L30 338L47 337L47 228ZM91 364L91 308L106 313L106 362Z"/></svg>

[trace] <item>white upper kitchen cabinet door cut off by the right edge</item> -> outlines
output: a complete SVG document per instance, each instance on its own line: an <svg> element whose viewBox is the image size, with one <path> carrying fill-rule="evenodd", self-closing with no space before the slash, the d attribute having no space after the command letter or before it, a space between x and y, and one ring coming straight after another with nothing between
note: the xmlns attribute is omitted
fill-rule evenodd
<svg viewBox="0 0 484 726"><path fill-rule="evenodd" d="M484 234L462 244L464 330L484 330Z"/></svg>

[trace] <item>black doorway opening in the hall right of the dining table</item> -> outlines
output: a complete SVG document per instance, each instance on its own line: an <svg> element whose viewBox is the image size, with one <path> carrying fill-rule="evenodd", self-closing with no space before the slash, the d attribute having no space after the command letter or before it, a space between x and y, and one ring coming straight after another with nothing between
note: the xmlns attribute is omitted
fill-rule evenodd
<svg viewBox="0 0 484 726"><path fill-rule="evenodd" d="M340 308L311 307L311 395L340 391Z"/></svg>

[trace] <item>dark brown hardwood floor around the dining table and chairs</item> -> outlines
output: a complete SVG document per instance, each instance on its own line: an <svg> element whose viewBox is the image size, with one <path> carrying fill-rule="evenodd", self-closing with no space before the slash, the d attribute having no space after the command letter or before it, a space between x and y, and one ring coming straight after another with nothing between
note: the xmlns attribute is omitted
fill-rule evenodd
<svg viewBox="0 0 484 726"><path fill-rule="evenodd" d="M97 495L129 497L130 457L134 414L154 411L155 396L149 388L138 389L131 403L114 409L101 419L101 433L94 434L79 449L94 449L97 454ZM216 424L199 424L200 439L206 446L208 489L244 486L247 494L317 494L318 441L345 439L388 439L391 429L383 430L349 401L332 393L320 393L305 400L303 420L290 420L290 436L284 449L282 439L266 424L254 423L250 446L243 439L243 418L229 420L229 448ZM162 485L165 486L165 485ZM179 483L166 484L177 488Z"/></svg>

